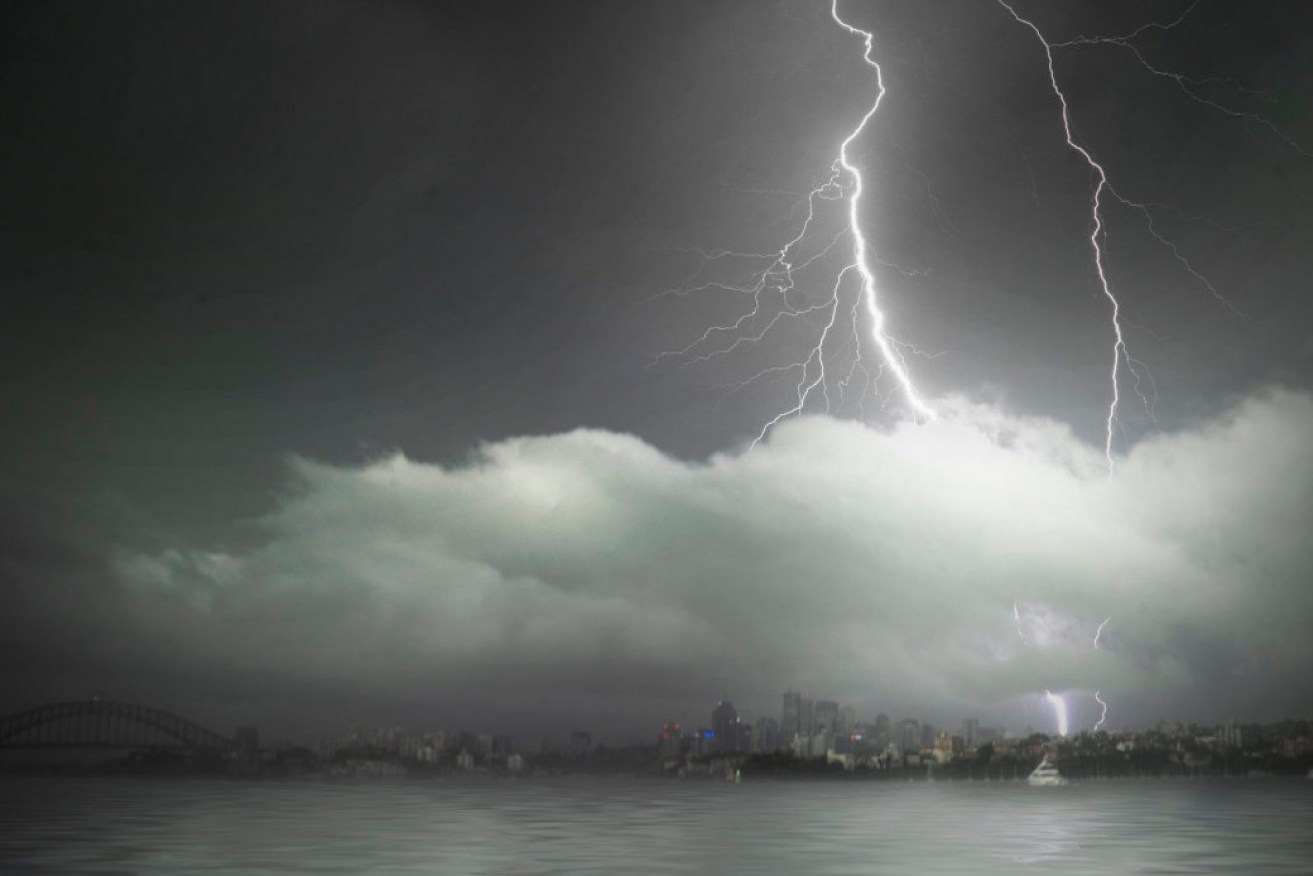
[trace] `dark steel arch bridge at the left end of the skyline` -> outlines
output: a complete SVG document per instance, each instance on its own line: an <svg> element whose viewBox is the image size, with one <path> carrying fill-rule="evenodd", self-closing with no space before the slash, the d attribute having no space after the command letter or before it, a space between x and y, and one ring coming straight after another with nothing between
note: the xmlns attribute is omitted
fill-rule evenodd
<svg viewBox="0 0 1313 876"><path fill-rule="evenodd" d="M50 703L0 718L0 751L12 749L232 750L232 741L176 714L101 699Z"/></svg>

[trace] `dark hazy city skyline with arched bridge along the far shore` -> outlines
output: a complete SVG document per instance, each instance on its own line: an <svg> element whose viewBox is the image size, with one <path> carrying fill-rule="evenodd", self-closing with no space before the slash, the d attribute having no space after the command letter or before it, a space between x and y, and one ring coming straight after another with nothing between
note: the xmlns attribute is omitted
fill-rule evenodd
<svg viewBox="0 0 1313 876"><path fill-rule="evenodd" d="M972 751L979 743L1003 746L1033 745L1035 738L1067 742L1090 737L1138 738L1146 734L1167 737L1199 735L1215 730L1218 745L1241 747L1245 728L1259 737L1270 735L1262 722L1230 718L1218 724L1159 720L1145 728L1078 728L1069 733L1052 728L1023 729L989 726L978 717L964 717L956 725L936 725L919 717L880 712L859 714L851 705L802 696L796 691L781 695L780 718L768 714L752 717L741 713L731 700L722 696L710 709L708 721L664 721L651 738L597 738L587 729L558 729L541 738L516 735L516 728L483 728L463 720L431 721L403 728L395 724L355 724L332 732L319 728L306 738L265 738L261 746L260 728L242 725L231 733L201 726L185 716L172 714L144 704L119 703L93 696L85 700L49 703L16 714L0 716L0 749L37 749L55 751L68 747L131 749L138 754L165 749L194 749L197 751L257 750L318 750L320 754L341 750L389 750L415 759L418 749L428 746L432 753L463 750L479 755L506 758L512 754L540 751L542 754L569 754L587 756L599 749L655 749L659 756L709 756L718 754L792 751L801 760L832 758L852 750L924 753L952 746L955 756ZM1308 718L1291 717L1275 725L1299 730L1292 743L1306 754L1313 751L1313 735ZM473 726L473 729L471 729ZM461 728L461 729L456 729ZM523 729L523 728L520 728ZM74 745L81 739L83 743ZM97 742L97 739L100 742ZM110 742L114 741L116 742ZM1293 754L1288 756L1295 756Z"/></svg>

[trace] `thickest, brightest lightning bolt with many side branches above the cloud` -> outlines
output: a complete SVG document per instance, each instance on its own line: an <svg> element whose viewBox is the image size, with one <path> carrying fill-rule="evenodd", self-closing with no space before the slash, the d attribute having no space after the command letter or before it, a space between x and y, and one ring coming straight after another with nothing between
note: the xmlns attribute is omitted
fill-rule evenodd
<svg viewBox="0 0 1313 876"><path fill-rule="evenodd" d="M693 251L702 259L704 265L709 261L741 260L748 264L755 263L756 267L750 268L747 274L738 280L709 281L689 288L672 289L668 293L676 296L699 292L729 293L743 297L744 306L731 322L712 326L681 349L663 352L655 360L660 361L670 357L680 360L684 364L705 362L763 341L784 326L797 323L809 326L814 332L814 339L801 361L762 369L746 381L730 386L730 391L737 391L765 377L783 373L796 373L798 376L794 385L793 403L765 420L752 440L752 447L763 441L769 431L781 420L802 414L814 395L819 397L821 405L829 412L831 407L831 380L838 386L840 394L848 389L853 376L859 370L865 374L868 386L871 385L871 370L867 369L861 359L861 311L865 314L867 340L880 353L880 365L874 380L878 381L886 372L893 374L913 415L918 419L935 419L935 411L918 391L903 356L905 349L910 352L920 351L897 340L889 334L886 317L880 307L877 294L876 265L893 268L909 277L918 276L920 272L907 271L881 259L867 239L867 232L861 225L861 206L867 184L860 167L852 159L851 151L853 143L865 133L871 120L880 110L886 93L884 72L873 58L874 35L869 30L863 30L848 24L839 14L838 0L831 0L830 17L847 33L861 38L864 47L861 54L863 63L874 71L876 75L876 97L873 102L857 121L856 126L839 143L838 154L830 164L829 173L806 193L806 217L797 232L783 247L773 252ZM843 230L829 246L814 255L805 256L805 252L815 248L813 240L815 236L814 232L821 223L818 211L826 206L826 202L847 204ZM798 301L798 274L813 265L819 264L825 267L823 259L838 247L840 239L847 239L848 247L846 248L842 267L838 268L832 282L829 285L829 293L819 303ZM856 281L856 289L846 293L844 286L853 285L851 280ZM848 303L844 303L846 294L852 296ZM832 353L827 353L827 344L834 338L840 315L851 322L852 336L857 340L857 343L851 344L852 361L847 373L832 368L830 362ZM840 376L835 377L835 374Z"/></svg>

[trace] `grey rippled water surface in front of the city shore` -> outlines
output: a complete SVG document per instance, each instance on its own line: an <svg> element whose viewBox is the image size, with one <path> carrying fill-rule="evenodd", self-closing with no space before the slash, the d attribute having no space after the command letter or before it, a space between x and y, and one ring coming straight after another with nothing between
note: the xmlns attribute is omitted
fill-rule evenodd
<svg viewBox="0 0 1313 876"><path fill-rule="evenodd" d="M1313 781L0 779L5 873L1309 873Z"/></svg>

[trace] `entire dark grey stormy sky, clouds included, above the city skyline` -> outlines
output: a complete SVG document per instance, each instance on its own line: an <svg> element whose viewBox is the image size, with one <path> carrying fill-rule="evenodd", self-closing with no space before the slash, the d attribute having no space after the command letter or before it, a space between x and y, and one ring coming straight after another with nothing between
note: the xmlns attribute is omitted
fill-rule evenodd
<svg viewBox="0 0 1313 876"><path fill-rule="evenodd" d="M1015 8L1053 41L1173 3ZM0 89L0 712L647 738L859 716L1313 711L1313 17L1200 0L1058 49L846 0L885 380L794 403L692 290L874 99L826 3L32 4ZM1225 301L1222 301L1225 298ZM864 356L873 365L877 355ZM835 394L835 398L840 398ZM1094 632L1112 620L1092 645Z"/></svg>

